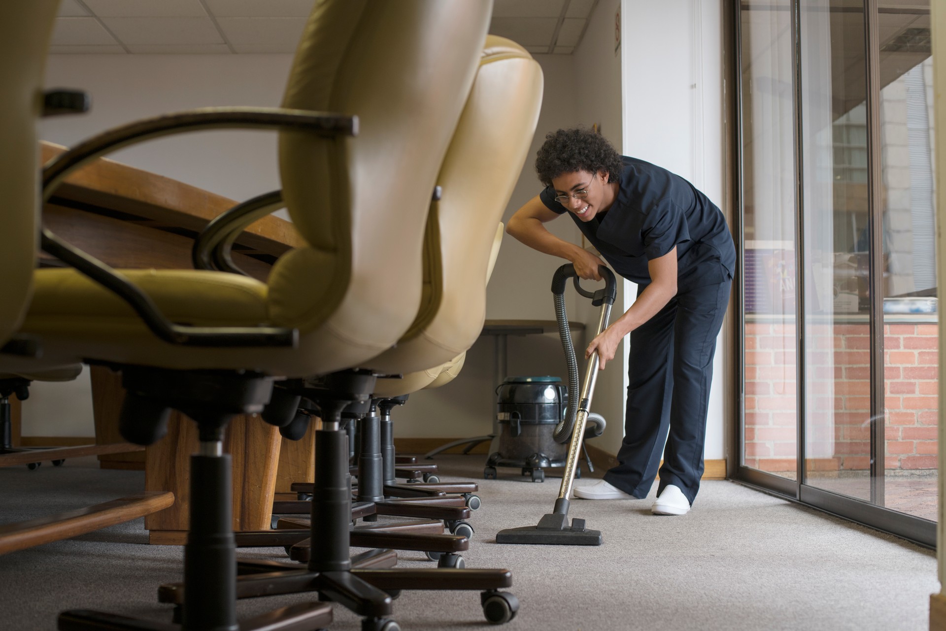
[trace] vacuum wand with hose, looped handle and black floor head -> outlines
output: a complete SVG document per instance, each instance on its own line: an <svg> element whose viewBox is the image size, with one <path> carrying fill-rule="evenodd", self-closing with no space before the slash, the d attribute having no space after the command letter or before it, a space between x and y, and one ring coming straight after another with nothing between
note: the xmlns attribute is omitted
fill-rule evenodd
<svg viewBox="0 0 946 631"><path fill-rule="evenodd" d="M604 289L587 291L582 289L578 274L573 265L566 264L558 268L552 276L552 296L555 302L555 319L558 322L558 332L562 339L562 346L569 365L569 389L572 393L578 392L578 366L575 359L574 347L571 344L569 321L565 313L565 285L569 277L572 279L575 290L579 294L591 299L591 304L601 307L601 316L598 320L598 329L595 336L604 331L607 326L611 307L617 296L617 282L614 273L601 266L598 268L604 279ZM586 429L589 421L604 429L604 418L590 412L591 394L594 392L595 381L598 377L598 353L592 353L587 360L585 380L582 383L581 396L569 396L569 411L566 417L555 429L555 440L565 442L569 440L569 453L565 461L565 473L562 476L562 485L558 491L558 498L552 513L547 513L535 526L507 528L496 535L497 543L532 543L545 545L570 546L600 546L602 543L601 531L588 530L585 519L574 518L569 525L569 494L575 480L578 466L578 457L582 450ZM572 412L572 410L577 410ZM598 431L600 434L601 432Z"/></svg>

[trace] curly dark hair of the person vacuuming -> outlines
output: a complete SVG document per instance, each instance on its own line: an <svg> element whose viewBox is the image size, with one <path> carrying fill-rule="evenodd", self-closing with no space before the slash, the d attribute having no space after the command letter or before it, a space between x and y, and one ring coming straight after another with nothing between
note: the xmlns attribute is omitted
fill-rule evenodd
<svg viewBox="0 0 946 631"><path fill-rule="evenodd" d="M621 177L621 155L603 135L585 128L552 131L535 152L535 172L546 186L562 173L607 171L607 181Z"/></svg>

